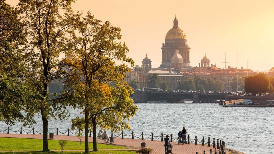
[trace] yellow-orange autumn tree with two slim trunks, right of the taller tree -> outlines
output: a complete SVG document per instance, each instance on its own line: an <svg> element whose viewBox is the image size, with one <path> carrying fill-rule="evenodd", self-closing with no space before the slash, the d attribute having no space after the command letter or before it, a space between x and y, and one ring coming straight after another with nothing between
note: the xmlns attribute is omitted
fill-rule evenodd
<svg viewBox="0 0 274 154"><path fill-rule="evenodd" d="M115 131L130 128L126 121L138 108L130 99L132 88L127 83L120 82L123 80L124 72L129 71L125 63L133 66L134 61L126 57L126 44L117 42L121 39L120 28L112 26L109 21L102 23L94 19L89 12L85 17L79 12L71 13L70 19L74 21L74 30L80 37L71 31L72 50L67 52L67 56L72 58L66 60L71 69L68 71L69 76L62 98L65 99L64 102L82 110L84 114L84 117L78 117L73 121L83 122L85 153L89 153L89 128L93 134L96 134L98 126ZM114 60L122 64L115 65ZM110 86L109 82L116 85ZM94 137L93 151L97 150Z"/></svg>

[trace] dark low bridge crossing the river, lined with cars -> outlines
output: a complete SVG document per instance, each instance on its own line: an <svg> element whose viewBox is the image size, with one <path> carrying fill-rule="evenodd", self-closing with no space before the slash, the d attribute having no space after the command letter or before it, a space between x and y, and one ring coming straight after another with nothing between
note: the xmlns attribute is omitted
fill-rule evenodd
<svg viewBox="0 0 274 154"><path fill-rule="evenodd" d="M189 92L164 92L164 91L134 91L133 100L135 103L146 103L147 101L166 100L168 103L180 103L182 100L193 100L193 103L214 102L224 100L222 94L199 94Z"/></svg>

